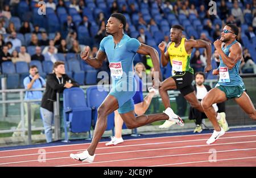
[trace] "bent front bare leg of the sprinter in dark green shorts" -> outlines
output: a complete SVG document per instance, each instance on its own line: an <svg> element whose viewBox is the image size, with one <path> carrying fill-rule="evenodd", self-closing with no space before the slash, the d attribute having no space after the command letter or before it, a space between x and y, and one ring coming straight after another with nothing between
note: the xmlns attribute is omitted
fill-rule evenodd
<svg viewBox="0 0 256 178"><path fill-rule="evenodd" d="M210 122L212 122L214 130L217 132L220 132L221 128L218 125L218 121L216 118L216 112L212 105L214 103L222 103L226 101L226 94L225 92L221 91L218 88L213 88L210 90L207 95L204 97L204 99L201 101L201 105L204 109L205 115L209 118Z"/></svg>

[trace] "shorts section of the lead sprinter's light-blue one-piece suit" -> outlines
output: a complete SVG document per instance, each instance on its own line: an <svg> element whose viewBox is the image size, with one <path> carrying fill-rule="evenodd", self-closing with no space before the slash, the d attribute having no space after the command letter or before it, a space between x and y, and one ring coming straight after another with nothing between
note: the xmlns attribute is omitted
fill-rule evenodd
<svg viewBox="0 0 256 178"><path fill-rule="evenodd" d="M115 84L109 93L114 96L118 101L118 112L120 114L134 111L133 96L135 95L135 88L137 84L134 78L128 78L127 80L115 80Z"/></svg>

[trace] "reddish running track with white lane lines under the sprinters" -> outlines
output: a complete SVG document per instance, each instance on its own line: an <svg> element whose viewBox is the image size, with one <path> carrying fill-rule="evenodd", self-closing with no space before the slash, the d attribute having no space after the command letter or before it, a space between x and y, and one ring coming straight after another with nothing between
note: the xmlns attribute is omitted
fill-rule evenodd
<svg viewBox="0 0 256 178"><path fill-rule="evenodd" d="M212 145L207 145L210 135L127 139L116 146L100 142L93 163L69 158L71 153L84 151L89 143L3 150L0 151L0 166L256 166L256 128L226 132Z"/></svg>

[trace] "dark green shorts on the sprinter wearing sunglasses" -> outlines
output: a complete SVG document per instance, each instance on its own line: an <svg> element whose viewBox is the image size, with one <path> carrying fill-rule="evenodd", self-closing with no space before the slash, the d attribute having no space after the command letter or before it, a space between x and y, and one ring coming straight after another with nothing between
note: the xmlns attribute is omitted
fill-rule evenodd
<svg viewBox="0 0 256 178"><path fill-rule="evenodd" d="M238 85L238 86L223 86L219 83L216 84L215 88L220 89L221 91L225 92L226 98L233 99L233 98L240 98L242 96L243 91L245 91L245 85Z"/></svg>

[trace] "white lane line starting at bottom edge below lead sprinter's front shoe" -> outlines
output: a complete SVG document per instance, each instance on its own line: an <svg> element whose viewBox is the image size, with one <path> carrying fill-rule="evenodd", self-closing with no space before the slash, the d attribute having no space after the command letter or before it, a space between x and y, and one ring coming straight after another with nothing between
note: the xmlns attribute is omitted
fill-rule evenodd
<svg viewBox="0 0 256 178"><path fill-rule="evenodd" d="M216 152L234 152L234 151L247 151L247 150L255 150L253 149L237 149L237 150L222 150L222 151L216 151ZM197 155L197 154L209 154L209 152L193 152L188 154L176 154L176 155L164 155L164 156L151 156L151 157L143 157L143 158L131 158L131 159L117 159L117 160L109 160L109 161L103 161L103 162L93 162L93 163L80 163L80 164L69 164L69 165L63 165L63 166L57 166L57 167L66 167L66 166L81 166L82 164L97 164L97 163L109 163L109 162L121 162L121 161L127 161L127 160L138 160L138 159L154 159L154 158L166 158L166 157L172 157L172 156L187 156L187 155ZM251 158L251 157L250 157ZM256 158L253 157L253 158ZM234 158L233 158L234 159ZM209 160L207 160L209 162ZM203 161L205 162L205 161ZM175 163L175 164L182 164L182 163Z"/></svg>

